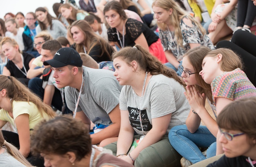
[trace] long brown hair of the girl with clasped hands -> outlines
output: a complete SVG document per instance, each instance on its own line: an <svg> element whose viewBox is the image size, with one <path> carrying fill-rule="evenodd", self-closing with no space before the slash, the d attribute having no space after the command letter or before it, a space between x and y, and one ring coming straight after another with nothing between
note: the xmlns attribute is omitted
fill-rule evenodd
<svg viewBox="0 0 256 167"><path fill-rule="evenodd" d="M207 46L198 46L193 49L189 49L184 57L188 58L188 61L194 67L196 80L199 85L195 85L197 91L204 93L208 100L213 104L211 85L206 83L199 72L202 71L202 62L205 55L212 51Z"/></svg>

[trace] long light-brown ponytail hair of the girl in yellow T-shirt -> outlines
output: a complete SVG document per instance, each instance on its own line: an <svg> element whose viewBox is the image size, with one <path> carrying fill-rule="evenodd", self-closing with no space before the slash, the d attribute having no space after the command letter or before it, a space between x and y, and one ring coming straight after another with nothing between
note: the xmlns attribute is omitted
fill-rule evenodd
<svg viewBox="0 0 256 167"><path fill-rule="evenodd" d="M32 102L35 104L35 106L37 106L40 115L43 118L43 112L52 118L56 116L56 113L50 106L44 104L37 95L30 92L30 90L16 78L12 76L0 75L0 88L6 89L6 92L8 92L7 96L11 98L11 107L14 100L28 103Z"/></svg>

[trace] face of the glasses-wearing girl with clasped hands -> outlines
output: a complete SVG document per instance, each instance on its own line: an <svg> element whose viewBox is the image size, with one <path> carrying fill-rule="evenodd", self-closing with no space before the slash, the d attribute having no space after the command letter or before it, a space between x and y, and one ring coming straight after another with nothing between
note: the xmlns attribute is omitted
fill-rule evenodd
<svg viewBox="0 0 256 167"><path fill-rule="evenodd" d="M185 81L186 85L198 85L198 82L196 80L197 74L192 74L192 73L195 73L195 70L193 65L190 63L189 59L187 58L187 56L183 58L182 66L183 66L183 72L181 74L181 77ZM191 75L189 75L188 73Z"/></svg>

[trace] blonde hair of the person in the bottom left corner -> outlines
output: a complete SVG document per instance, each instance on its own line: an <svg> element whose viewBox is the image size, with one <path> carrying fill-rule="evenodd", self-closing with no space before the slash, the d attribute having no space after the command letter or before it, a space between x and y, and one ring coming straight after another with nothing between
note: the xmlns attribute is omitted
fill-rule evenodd
<svg viewBox="0 0 256 167"><path fill-rule="evenodd" d="M22 163L23 165L27 167L33 167L27 160L26 158L19 152L19 150L14 147L11 143L5 142L4 143L4 138L3 138L3 133L2 131L0 132L0 149L3 149L3 146L5 146L6 151L8 154L10 154L12 157L14 157L17 161Z"/></svg>

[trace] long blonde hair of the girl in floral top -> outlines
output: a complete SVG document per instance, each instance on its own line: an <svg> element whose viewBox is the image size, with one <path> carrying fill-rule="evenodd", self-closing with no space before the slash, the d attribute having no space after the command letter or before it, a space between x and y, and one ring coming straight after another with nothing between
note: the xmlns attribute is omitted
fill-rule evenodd
<svg viewBox="0 0 256 167"><path fill-rule="evenodd" d="M157 6L167 11L172 9L172 14L169 17L169 21L171 25L174 27L174 38L177 40L177 45L179 47L183 47L183 38L182 38L180 22L184 16L188 16L188 18L192 22L194 22L194 24L199 28L199 30L202 32L203 35L206 33L203 27L201 26L201 24L199 24L185 10L183 10L180 7L180 5L177 4L174 0L155 0L152 6ZM163 31L168 30L166 23L157 23L157 25Z"/></svg>

